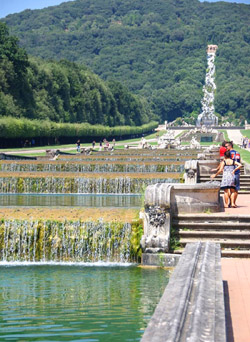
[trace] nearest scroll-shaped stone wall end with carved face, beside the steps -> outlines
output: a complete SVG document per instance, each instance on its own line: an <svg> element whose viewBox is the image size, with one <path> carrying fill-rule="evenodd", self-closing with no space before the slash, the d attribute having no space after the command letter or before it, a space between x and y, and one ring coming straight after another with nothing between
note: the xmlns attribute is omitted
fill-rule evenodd
<svg viewBox="0 0 250 342"><path fill-rule="evenodd" d="M173 215L220 211L220 185L158 183L145 191L145 211L142 213L144 253L168 253Z"/></svg>

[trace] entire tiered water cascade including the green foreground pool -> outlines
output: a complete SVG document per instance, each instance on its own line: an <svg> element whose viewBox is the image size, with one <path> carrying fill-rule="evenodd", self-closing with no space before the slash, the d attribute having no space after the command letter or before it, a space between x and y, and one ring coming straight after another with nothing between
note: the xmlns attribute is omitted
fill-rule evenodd
<svg viewBox="0 0 250 342"><path fill-rule="evenodd" d="M149 184L178 183L185 161L197 152L129 150L0 161L0 200L12 201L0 207L0 339L138 340L169 272L136 267L141 205L118 202L140 198ZM42 207L33 206L32 196L71 199ZM81 196L93 197L90 207ZM105 196L116 198L111 206Z"/></svg>

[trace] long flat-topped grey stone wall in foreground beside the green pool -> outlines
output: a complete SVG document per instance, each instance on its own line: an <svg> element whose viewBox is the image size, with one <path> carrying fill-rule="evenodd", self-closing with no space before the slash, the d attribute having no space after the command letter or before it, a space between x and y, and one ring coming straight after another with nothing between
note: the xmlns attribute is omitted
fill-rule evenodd
<svg viewBox="0 0 250 342"><path fill-rule="evenodd" d="M188 244L142 342L226 342L220 246Z"/></svg>

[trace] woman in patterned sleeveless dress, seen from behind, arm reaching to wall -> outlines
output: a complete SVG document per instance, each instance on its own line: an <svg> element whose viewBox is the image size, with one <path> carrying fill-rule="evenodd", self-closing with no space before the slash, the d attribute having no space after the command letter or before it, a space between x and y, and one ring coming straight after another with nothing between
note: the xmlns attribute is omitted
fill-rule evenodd
<svg viewBox="0 0 250 342"><path fill-rule="evenodd" d="M219 170L211 175L215 178L223 172L220 188L224 190L224 206L228 208L237 208L236 201L236 185L235 185L235 172L241 168L241 164L231 159L230 151L224 153L224 160L220 163Z"/></svg>

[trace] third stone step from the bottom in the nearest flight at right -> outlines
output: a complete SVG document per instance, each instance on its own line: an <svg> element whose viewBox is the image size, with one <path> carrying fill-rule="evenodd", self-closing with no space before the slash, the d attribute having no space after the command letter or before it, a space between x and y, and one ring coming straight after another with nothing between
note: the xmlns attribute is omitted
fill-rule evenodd
<svg viewBox="0 0 250 342"><path fill-rule="evenodd" d="M218 238L218 239L250 239L250 227L247 231L214 231L214 230L179 230L180 238Z"/></svg>

